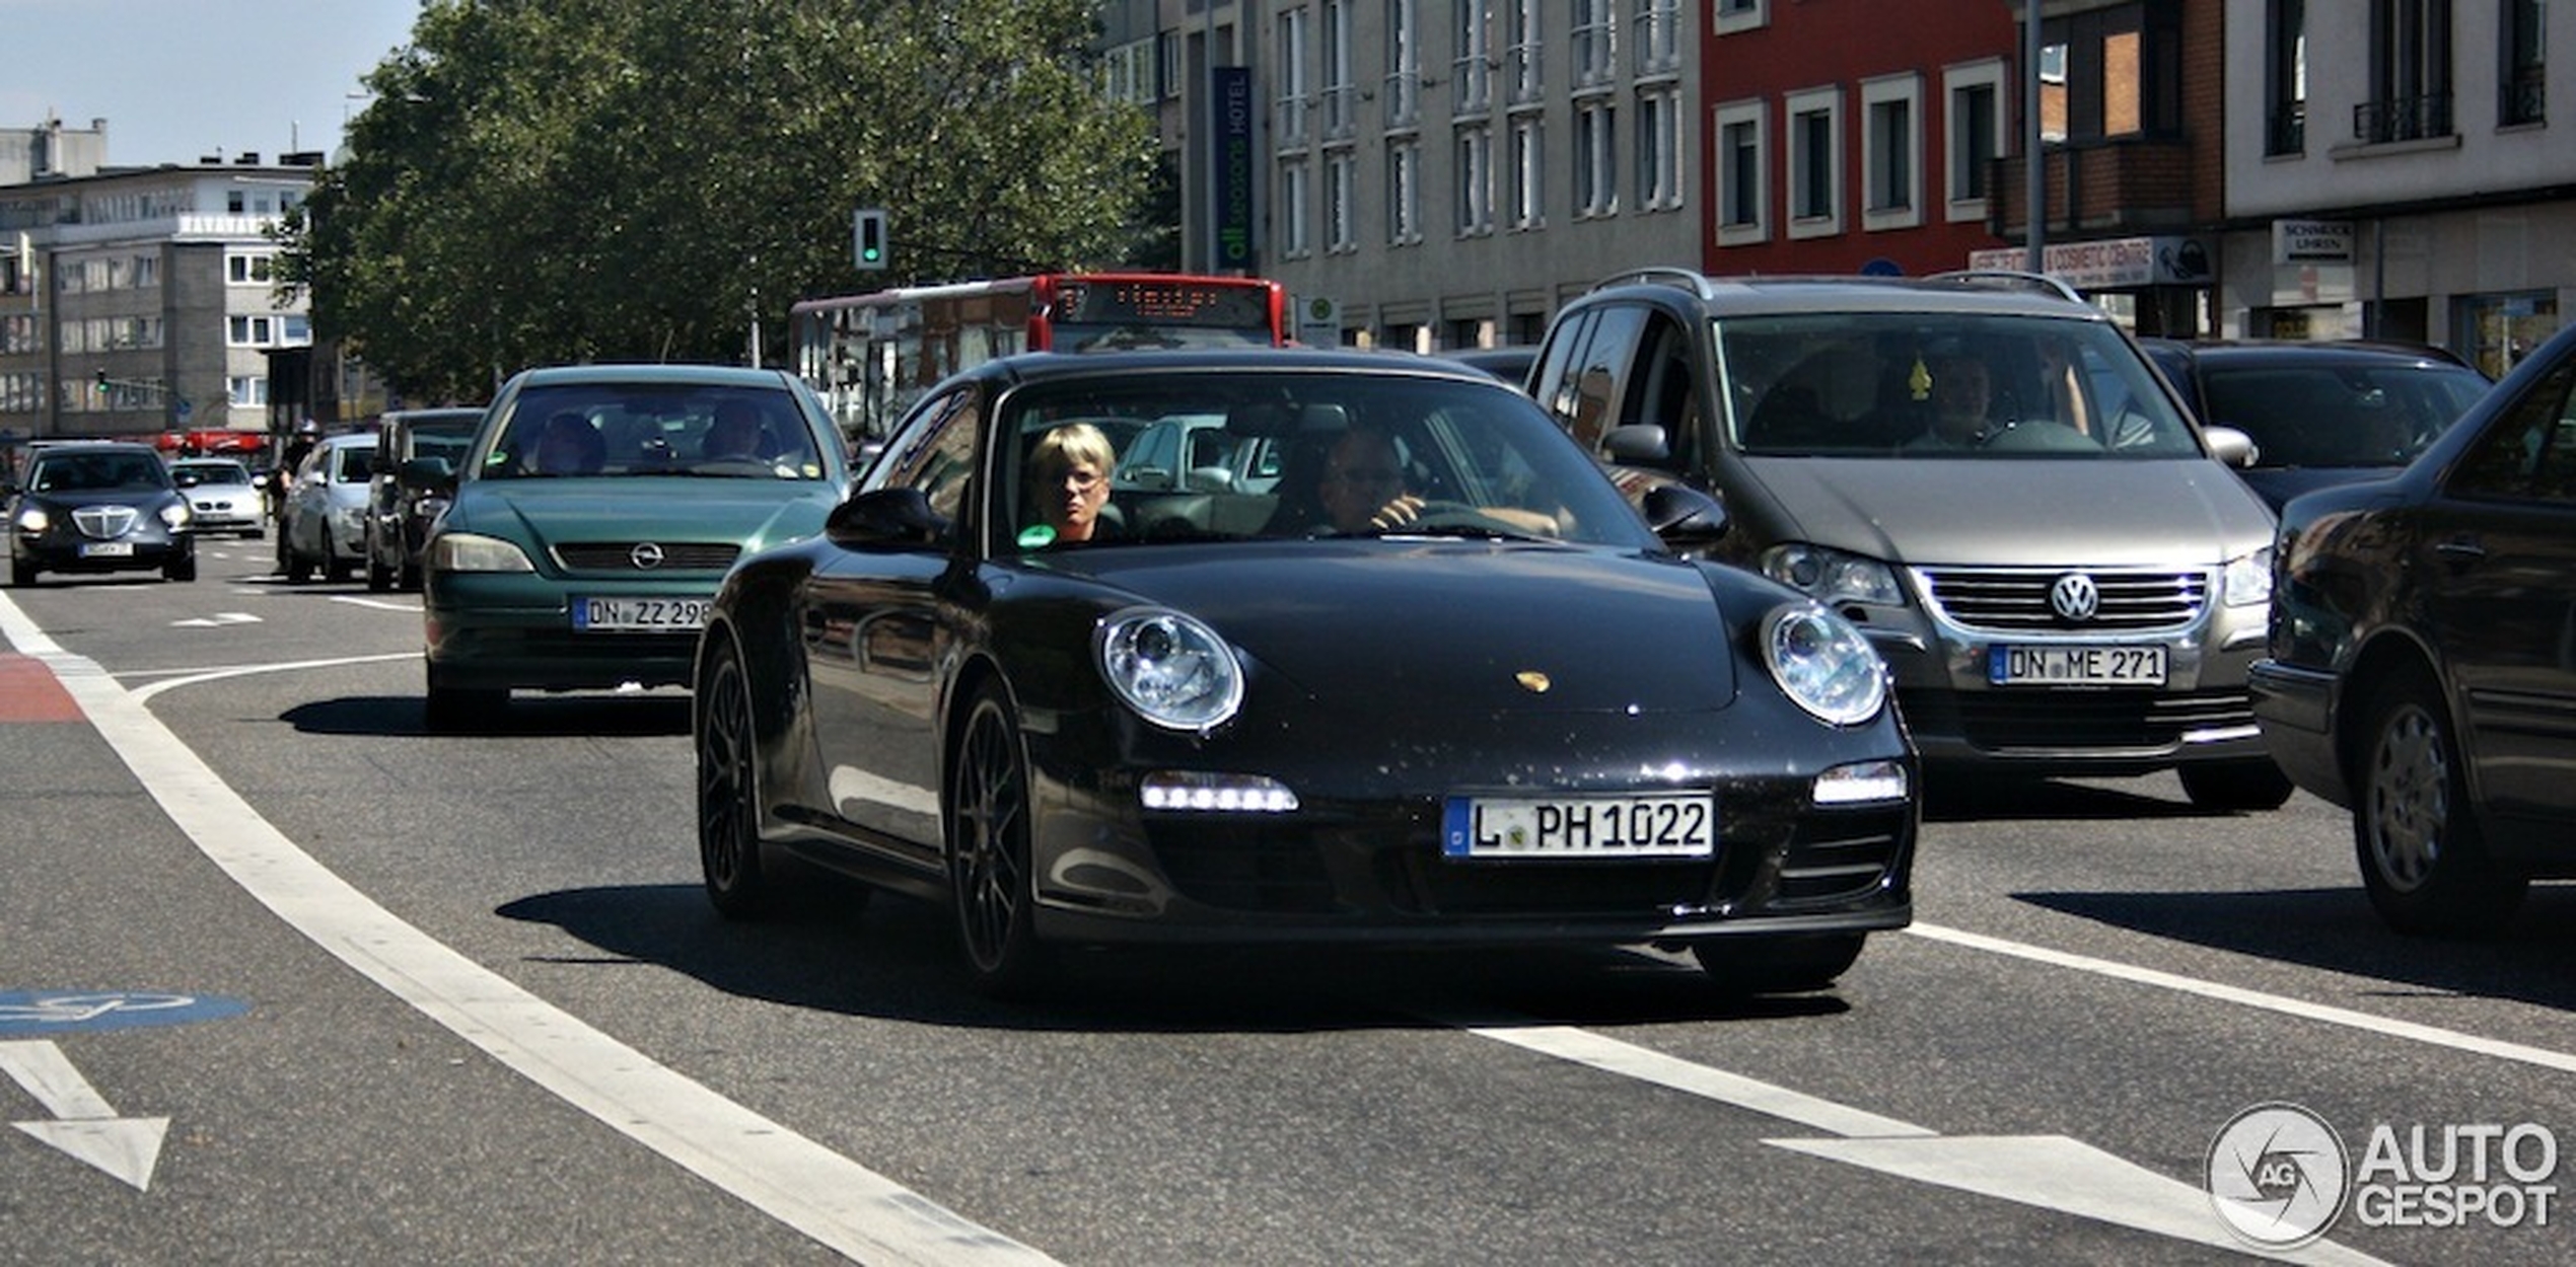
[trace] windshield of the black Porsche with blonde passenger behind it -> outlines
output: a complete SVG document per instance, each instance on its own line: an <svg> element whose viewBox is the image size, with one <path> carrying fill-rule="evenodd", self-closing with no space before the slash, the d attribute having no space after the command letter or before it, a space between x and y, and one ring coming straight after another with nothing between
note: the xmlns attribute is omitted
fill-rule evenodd
<svg viewBox="0 0 2576 1267"><path fill-rule="evenodd" d="M999 435L1018 443L994 505L1002 543L1023 551L1084 536L1654 543L1600 466L1499 384L1332 371L1079 379L1005 397ZM1079 528L1087 515L1097 530Z"/></svg>

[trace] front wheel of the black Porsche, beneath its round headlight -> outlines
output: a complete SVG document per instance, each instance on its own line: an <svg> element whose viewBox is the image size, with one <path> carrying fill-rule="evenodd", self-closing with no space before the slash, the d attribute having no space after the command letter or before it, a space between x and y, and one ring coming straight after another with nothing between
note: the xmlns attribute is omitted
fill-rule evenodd
<svg viewBox="0 0 2576 1267"><path fill-rule="evenodd" d="M1030 991L1046 976L1033 930L1028 757L1020 721L987 682L966 708L948 778L948 888L974 986L992 997Z"/></svg>

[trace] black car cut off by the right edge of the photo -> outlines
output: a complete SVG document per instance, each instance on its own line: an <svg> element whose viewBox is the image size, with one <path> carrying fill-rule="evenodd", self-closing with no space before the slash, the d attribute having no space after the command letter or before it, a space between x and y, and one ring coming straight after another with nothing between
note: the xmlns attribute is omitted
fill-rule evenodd
<svg viewBox="0 0 2576 1267"><path fill-rule="evenodd" d="M2576 327L2401 474L2290 500L2254 716L2406 932L2576 876Z"/></svg>

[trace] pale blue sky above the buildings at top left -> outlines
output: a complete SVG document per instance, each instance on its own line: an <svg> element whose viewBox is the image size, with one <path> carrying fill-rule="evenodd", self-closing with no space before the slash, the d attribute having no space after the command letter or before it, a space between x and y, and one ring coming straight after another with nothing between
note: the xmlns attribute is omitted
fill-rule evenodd
<svg viewBox="0 0 2576 1267"><path fill-rule="evenodd" d="M0 129L108 121L108 165L340 147L420 0L0 0Z"/></svg>

